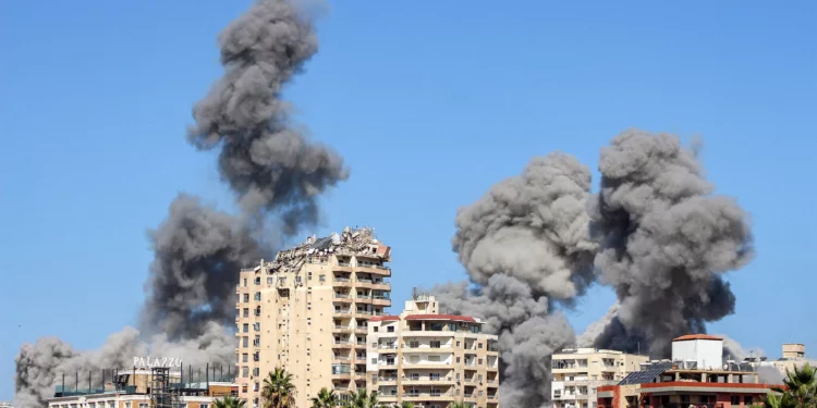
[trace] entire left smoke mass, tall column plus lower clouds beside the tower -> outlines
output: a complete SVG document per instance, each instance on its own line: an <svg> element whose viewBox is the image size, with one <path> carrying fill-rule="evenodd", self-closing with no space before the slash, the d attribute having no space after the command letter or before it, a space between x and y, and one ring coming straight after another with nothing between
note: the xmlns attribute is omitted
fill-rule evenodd
<svg viewBox="0 0 817 408"><path fill-rule="evenodd" d="M78 351L59 338L23 345L17 407L44 406L62 373L129 367L134 356L234 363L239 270L315 224L318 196L347 178L343 159L309 141L281 98L317 52L312 22L284 0L258 1L221 33L219 46L224 74L195 104L187 139L198 149L220 149L219 173L241 213L179 195L150 232L155 259L139 330L126 327L98 350Z"/></svg>

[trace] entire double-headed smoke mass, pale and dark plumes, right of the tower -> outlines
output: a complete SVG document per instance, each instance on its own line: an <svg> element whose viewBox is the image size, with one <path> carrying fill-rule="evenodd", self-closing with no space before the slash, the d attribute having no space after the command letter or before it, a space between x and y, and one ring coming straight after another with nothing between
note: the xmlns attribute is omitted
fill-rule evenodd
<svg viewBox="0 0 817 408"><path fill-rule="evenodd" d="M500 336L503 406L550 400L550 355L563 346L668 357L670 341L734 310L721 274L752 258L746 215L712 196L696 152L627 131L602 149L600 191L563 153L534 159L456 215L454 250L470 282L432 289L447 312ZM578 338L558 307L596 279L619 301Z"/></svg>

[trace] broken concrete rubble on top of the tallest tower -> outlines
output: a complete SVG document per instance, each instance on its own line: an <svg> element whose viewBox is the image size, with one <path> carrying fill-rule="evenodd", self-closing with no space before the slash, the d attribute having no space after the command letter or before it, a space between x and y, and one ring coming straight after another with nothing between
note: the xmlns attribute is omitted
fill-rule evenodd
<svg viewBox="0 0 817 408"><path fill-rule="evenodd" d="M303 244L279 251L276 259L266 267L269 273L294 272L305 262L324 263L332 255L341 258L366 257L388 262L391 260L391 248L375 237L373 227L353 230L346 226L340 234L332 233L322 238L309 236Z"/></svg>

